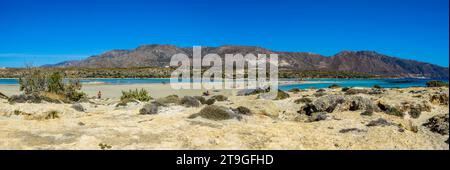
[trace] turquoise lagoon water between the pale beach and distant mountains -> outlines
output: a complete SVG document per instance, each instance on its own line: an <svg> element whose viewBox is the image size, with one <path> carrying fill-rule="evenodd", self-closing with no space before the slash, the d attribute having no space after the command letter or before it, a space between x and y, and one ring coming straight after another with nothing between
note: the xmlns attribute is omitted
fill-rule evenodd
<svg viewBox="0 0 450 170"><path fill-rule="evenodd" d="M337 84L342 87L372 87L379 85L384 88L405 88L413 86L425 86L427 81L432 79L305 79L305 84L280 85L281 90L292 88L326 88L331 84ZM285 79L289 81L289 79ZM441 79L448 82L448 79ZM170 79L165 78L129 78L129 79L82 79L82 83L104 83L104 84L146 84L146 83L170 83ZM18 84L17 79L0 79L0 85Z"/></svg>

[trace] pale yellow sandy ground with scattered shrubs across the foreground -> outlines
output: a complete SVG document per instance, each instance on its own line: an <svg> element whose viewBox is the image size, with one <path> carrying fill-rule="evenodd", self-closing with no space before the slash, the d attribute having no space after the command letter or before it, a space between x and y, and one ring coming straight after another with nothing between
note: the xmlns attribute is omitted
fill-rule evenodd
<svg viewBox="0 0 450 170"><path fill-rule="evenodd" d="M236 96L235 91L212 92L228 96L214 105L245 106L252 112L240 120L218 121L189 118L206 105L172 104L160 107L153 115L139 114L144 102L117 107L121 90L136 88L147 89L153 98L170 94L198 96L202 92L176 91L163 84L85 85L83 91L89 96L95 96L99 90L104 94L104 99L81 103L85 111L74 110L73 104L11 104L0 99L0 149L102 149L101 145L110 146L109 149L449 149L445 142L448 126L445 135L423 126L433 116L448 115L448 104L432 100L433 95L443 94L448 102L448 88L386 89L382 94L355 95L406 108L404 117L379 110L362 116L363 110L339 106L325 119L314 122L305 121L305 115L299 114L306 104L296 102L297 99L319 101L327 96L353 95L337 88L324 89L325 95L316 97L317 90L308 89L288 92L286 99L265 100L258 95ZM0 92L8 96L19 93L14 85L2 85ZM419 118L407 114L406 106L422 107L422 103L429 109L422 111ZM57 111L58 117L42 119L49 111ZM380 118L389 123L368 126Z"/></svg>

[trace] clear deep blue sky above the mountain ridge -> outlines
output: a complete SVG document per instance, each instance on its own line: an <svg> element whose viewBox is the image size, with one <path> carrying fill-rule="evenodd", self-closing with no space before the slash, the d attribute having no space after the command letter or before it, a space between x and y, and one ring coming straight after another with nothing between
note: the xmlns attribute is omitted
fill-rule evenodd
<svg viewBox="0 0 450 170"><path fill-rule="evenodd" d="M448 67L448 0L0 0L0 67L143 44L373 50Z"/></svg>

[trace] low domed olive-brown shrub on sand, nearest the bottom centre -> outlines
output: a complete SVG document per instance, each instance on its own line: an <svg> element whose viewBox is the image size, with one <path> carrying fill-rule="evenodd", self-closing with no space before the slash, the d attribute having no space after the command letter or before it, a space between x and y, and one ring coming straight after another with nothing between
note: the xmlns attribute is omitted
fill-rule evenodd
<svg viewBox="0 0 450 170"><path fill-rule="evenodd" d="M200 110L199 113L189 116L190 119L193 119L196 117L202 117L205 119L216 120L216 121L234 119L234 118L240 120L242 118L240 115L237 115L236 113L234 113L231 109L223 107L223 106L216 106L216 105L205 106L205 108Z"/></svg>

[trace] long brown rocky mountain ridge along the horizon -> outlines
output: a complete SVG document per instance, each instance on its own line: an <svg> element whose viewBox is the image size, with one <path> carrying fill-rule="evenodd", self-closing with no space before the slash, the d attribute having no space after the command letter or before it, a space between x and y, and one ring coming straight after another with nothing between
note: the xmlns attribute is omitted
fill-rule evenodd
<svg viewBox="0 0 450 170"><path fill-rule="evenodd" d="M143 45L132 50L112 50L80 61L65 61L45 67L129 68L166 67L173 55L192 56L192 48L172 45ZM202 47L202 55L225 54L279 54L280 69L353 71L382 76L448 78L449 70L429 63L400 59L374 51L343 51L327 57L305 52L277 52L253 46Z"/></svg>

